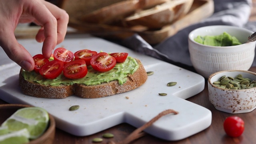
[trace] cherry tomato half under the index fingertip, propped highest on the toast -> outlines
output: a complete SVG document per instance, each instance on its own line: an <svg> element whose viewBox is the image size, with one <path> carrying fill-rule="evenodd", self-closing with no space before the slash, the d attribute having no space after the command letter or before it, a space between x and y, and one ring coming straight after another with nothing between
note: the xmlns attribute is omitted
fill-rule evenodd
<svg viewBox="0 0 256 144"><path fill-rule="evenodd" d="M65 48L56 48L53 52L53 58L54 60L59 60L66 64L74 59L74 54Z"/></svg>

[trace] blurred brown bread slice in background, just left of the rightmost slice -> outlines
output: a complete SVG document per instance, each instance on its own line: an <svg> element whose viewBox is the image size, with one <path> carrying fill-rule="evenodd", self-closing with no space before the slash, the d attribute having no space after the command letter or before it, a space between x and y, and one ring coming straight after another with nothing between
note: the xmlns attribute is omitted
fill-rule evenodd
<svg viewBox="0 0 256 144"><path fill-rule="evenodd" d="M150 8L166 1L168 0L123 0L85 14L81 20L96 24L110 24L133 14L136 10Z"/></svg>

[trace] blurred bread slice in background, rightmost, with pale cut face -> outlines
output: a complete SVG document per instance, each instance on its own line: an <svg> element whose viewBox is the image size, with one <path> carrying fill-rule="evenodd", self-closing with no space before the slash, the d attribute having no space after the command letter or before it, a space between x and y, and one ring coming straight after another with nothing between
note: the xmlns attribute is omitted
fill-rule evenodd
<svg viewBox="0 0 256 144"><path fill-rule="evenodd" d="M124 19L126 25L162 28L187 14L194 0L169 0L153 8L142 10Z"/></svg>

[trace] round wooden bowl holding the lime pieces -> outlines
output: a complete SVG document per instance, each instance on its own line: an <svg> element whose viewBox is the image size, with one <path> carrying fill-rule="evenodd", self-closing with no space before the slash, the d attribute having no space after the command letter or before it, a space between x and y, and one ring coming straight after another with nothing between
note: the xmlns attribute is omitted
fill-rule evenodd
<svg viewBox="0 0 256 144"><path fill-rule="evenodd" d="M9 118L14 112L20 108L30 107L24 104L0 104L0 124ZM42 136L35 140L31 140L28 144L52 144L55 136L55 120L49 114L49 126Z"/></svg>

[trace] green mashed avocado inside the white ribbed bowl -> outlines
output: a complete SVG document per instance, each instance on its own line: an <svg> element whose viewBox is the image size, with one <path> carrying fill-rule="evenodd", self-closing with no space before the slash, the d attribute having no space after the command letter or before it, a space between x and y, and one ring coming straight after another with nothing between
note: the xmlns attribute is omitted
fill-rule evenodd
<svg viewBox="0 0 256 144"><path fill-rule="evenodd" d="M242 44L236 37L230 36L227 32L218 36L197 36L194 41L208 46L236 46Z"/></svg>

